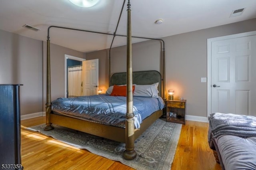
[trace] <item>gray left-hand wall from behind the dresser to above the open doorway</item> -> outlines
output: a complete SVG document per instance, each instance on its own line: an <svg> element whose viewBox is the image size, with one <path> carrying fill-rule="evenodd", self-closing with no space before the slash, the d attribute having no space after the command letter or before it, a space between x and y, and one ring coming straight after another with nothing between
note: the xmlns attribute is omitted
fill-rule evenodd
<svg viewBox="0 0 256 170"><path fill-rule="evenodd" d="M85 58L82 52L51 44L52 96L55 98L64 97L64 54ZM0 30L0 84L23 84L21 115L45 110L45 67L46 42Z"/></svg>

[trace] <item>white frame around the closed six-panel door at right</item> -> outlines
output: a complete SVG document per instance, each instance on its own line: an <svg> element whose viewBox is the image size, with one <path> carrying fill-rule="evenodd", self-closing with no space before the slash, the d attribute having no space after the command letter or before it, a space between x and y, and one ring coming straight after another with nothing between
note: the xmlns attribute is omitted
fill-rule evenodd
<svg viewBox="0 0 256 170"><path fill-rule="evenodd" d="M212 112L212 42L254 35L256 35L256 31L207 39L207 117Z"/></svg>

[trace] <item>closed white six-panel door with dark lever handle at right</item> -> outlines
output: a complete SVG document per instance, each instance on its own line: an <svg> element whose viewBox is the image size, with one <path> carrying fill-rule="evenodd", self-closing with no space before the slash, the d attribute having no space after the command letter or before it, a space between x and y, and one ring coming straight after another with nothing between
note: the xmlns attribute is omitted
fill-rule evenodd
<svg viewBox="0 0 256 170"><path fill-rule="evenodd" d="M212 42L212 111L256 115L256 36Z"/></svg>

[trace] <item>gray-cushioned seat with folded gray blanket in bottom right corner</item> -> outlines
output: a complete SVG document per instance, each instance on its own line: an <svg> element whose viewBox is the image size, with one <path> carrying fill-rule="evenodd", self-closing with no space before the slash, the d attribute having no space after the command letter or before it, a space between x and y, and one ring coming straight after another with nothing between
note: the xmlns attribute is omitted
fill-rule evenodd
<svg viewBox="0 0 256 170"><path fill-rule="evenodd" d="M212 113L208 142L222 170L256 170L256 117Z"/></svg>

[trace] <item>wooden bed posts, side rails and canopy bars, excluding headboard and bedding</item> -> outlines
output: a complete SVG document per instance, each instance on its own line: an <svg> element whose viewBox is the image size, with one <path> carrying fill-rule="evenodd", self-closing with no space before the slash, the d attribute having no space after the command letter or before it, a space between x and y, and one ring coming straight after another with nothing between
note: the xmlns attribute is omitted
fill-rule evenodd
<svg viewBox="0 0 256 170"><path fill-rule="evenodd" d="M125 0L124 0L125 2ZM156 119L163 115L162 110L156 111L152 113L149 117L143 120L142 124L140 124L139 129L134 129L134 113L133 113L133 95L132 95L132 83L133 83L133 72L132 72L132 36L131 36L131 10L130 10L130 0L127 3L127 70L126 70L126 85L127 85L127 97L126 97L126 128L114 127L109 125L103 125L99 123L93 123L90 121L84 121L81 119L76 119L72 117L67 117L63 115L56 115L51 111L51 83L50 83L50 36L49 29L51 27L56 28L64 28L58 26L50 26L48 28L48 36L47 36L47 78L46 78L46 127L44 130L52 130L52 124L60 125L63 127L72 128L75 130L80 130L82 132L86 132L89 134L94 134L96 136L101 136L104 138L108 138L111 140L125 142L125 151L123 153L124 159L133 160L136 158L136 152L134 150L134 140L142 134ZM77 30L72 28L64 28ZM86 31L86 30L78 30L78 31ZM92 32L92 31L87 31ZM100 32L94 32L100 33ZM106 34L106 33L100 33ZM116 36L116 34L113 34ZM140 37L136 37L140 38ZM151 40L160 40L160 39L152 39ZM162 41L162 40L161 40ZM163 41L162 41L163 42ZM162 59L162 77L160 82L162 81L160 96L166 100L165 98L165 50L163 48L163 59ZM110 63L109 63L110 65ZM109 75L110 76L110 75Z"/></svg>

